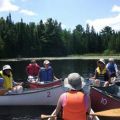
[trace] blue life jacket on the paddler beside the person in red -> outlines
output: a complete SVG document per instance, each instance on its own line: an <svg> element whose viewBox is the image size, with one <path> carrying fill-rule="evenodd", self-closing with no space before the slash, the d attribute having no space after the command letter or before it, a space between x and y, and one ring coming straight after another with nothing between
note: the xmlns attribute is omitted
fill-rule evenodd
<svg viewBox="0 0 120 120"><path fill-rule="evenodd" d="M39 74L40 81L53 81L53 69L51 66L48 69L42 67Z"/></svg>

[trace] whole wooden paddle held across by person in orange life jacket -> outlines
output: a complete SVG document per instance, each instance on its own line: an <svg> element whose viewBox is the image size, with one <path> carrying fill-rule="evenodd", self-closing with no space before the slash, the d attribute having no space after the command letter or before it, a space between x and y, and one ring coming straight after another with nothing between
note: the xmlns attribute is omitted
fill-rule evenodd
<svg viewBox="0 0 120 120"><path fill-rule="evenodd" d="M105 117L120 117L120 108L90 113L90 115L105 116ZM41 119L48 119L48 118L54 118L54 117L56 116L55 115L43 115L43 114L41 115Z"/></svg>

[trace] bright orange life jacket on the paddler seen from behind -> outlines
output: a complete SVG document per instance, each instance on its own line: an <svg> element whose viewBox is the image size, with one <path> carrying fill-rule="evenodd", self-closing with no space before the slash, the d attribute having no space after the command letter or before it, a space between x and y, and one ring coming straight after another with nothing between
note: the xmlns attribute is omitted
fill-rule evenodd
<svg viewBox="0 0 120 120"><path fill-rule="evenodd" d="M63 120L86 120L84 93L67 92L66 104L63 106Z"/></svg>

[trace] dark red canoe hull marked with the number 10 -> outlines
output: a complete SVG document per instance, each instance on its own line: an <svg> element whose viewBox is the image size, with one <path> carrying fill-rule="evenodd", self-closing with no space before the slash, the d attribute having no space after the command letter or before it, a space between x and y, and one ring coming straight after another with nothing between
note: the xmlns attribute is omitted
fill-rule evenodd
<svg viewBox="0 0 120 120"><path fill-rule="evenodd" d="M95 112L109 110L114 108L120 108L120 99L116 98L99 88L92 87L90 91L91 106ZM120 120L120 118L109 118Z"/></svg>

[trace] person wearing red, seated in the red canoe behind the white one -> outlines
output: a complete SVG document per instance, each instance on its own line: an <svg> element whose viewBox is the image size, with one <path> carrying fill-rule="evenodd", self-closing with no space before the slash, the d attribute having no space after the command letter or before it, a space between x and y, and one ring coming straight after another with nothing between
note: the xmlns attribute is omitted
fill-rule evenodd
<svg viewBox="0 0 120 120"><path fill-rule="evenodd" d="M26 67L26 72L28 76L33 76L33 77L38 76L39 70L40 70L40 66L36 63L35 59L32 59L31 63Z"/></svg>

